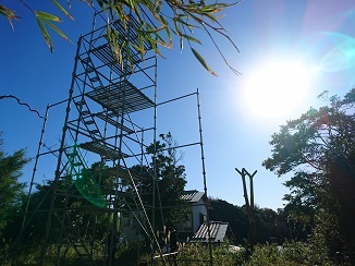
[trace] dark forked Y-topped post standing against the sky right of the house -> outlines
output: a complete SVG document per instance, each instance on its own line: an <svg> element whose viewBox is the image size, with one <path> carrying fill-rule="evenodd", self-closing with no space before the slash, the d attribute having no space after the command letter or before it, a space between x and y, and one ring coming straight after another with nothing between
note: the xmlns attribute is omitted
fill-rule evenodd
<svg viewBox="0 0 355 266"><path fill-rule="evenodd" d="M248 243L247 243L247 255L250 254L250 252L254 249L255 245L255 217L254 217L254 184L253 184L253 178L257 173L257 170L255 170L254 173L249 173L245 168L242 168L242 171L240 171L237 168L235 168L235 171L237 171L238 174L242 177L243 181L243 191L244 191L244 200L245 200L245 207L246 207L246 214L248 216L249 221L249 231L248 231ZM248 197L248 192L246 190L246 182L245 177L249 177L249 189L250 189L250 201Z"/></svg>

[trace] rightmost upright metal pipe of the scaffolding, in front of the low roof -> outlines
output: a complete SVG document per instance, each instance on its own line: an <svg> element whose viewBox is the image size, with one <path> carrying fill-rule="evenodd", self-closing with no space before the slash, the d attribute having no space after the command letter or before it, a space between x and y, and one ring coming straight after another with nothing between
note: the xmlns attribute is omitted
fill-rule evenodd
<svg viewBox="0 0 355 266"><path fill-rule="evenodd" d="M201 116L200 116L200 100L199 100L199 92L197 88L197 110L198 110L198 128L199 128L199 144L200 144L200 152L201 152L201 161L203 161L203 176L204 176L204 190L205 196L208 201L207 194L207 180L206 180L206 167L205 167L205 154L204 154L204 140L203 140L203 123L201 123ZM209 249L209 259L210 265L213 265L213 257L212 257L212 245L211 245L211 232L210 232L210 223L209 223L209 210L207 210L207 235L208 235L208 249Z"/></svg>

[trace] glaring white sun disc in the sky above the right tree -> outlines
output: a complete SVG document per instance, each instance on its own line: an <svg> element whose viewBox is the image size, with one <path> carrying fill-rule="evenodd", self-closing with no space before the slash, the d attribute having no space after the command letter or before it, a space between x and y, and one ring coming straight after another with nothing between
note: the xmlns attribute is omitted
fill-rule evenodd
<svg viewBox="0 0 355 266"><path fill-rule="evenodd" d="M252 70L243 87L249 113L274 119L290 114L309 88L309 72L295 61L278 61Z"/></svg>

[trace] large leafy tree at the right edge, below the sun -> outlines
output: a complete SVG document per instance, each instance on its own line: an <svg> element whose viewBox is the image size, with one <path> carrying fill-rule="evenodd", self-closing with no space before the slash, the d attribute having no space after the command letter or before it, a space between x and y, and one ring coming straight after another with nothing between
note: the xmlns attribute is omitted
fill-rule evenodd
<svg viewBox="0 0 355 266"><path fill-rule="evenodd" d="M355 89L343 98L327 97L326 93L320 97L329 105L310 108L272 135L272 156L262 165L279 177L296 171L286 183L293 189L285 196L295 208L292 214L311 222L316 211L314 234L322 237L333 258L340 259L336 254L346 251L354 264Z"/></svg>

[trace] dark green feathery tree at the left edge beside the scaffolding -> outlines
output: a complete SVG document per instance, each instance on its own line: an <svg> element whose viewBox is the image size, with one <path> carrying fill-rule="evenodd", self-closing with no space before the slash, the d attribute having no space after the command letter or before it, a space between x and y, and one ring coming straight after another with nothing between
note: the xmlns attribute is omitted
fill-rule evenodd
<svg viewBox="0 0 355 266"><path fill-rule="evenodd" d="M2 150L3 142L0 140L0 232L11 221L24 200L25 184L19 181L22 168L29 161L25 149L13 155Z"/></svg>

